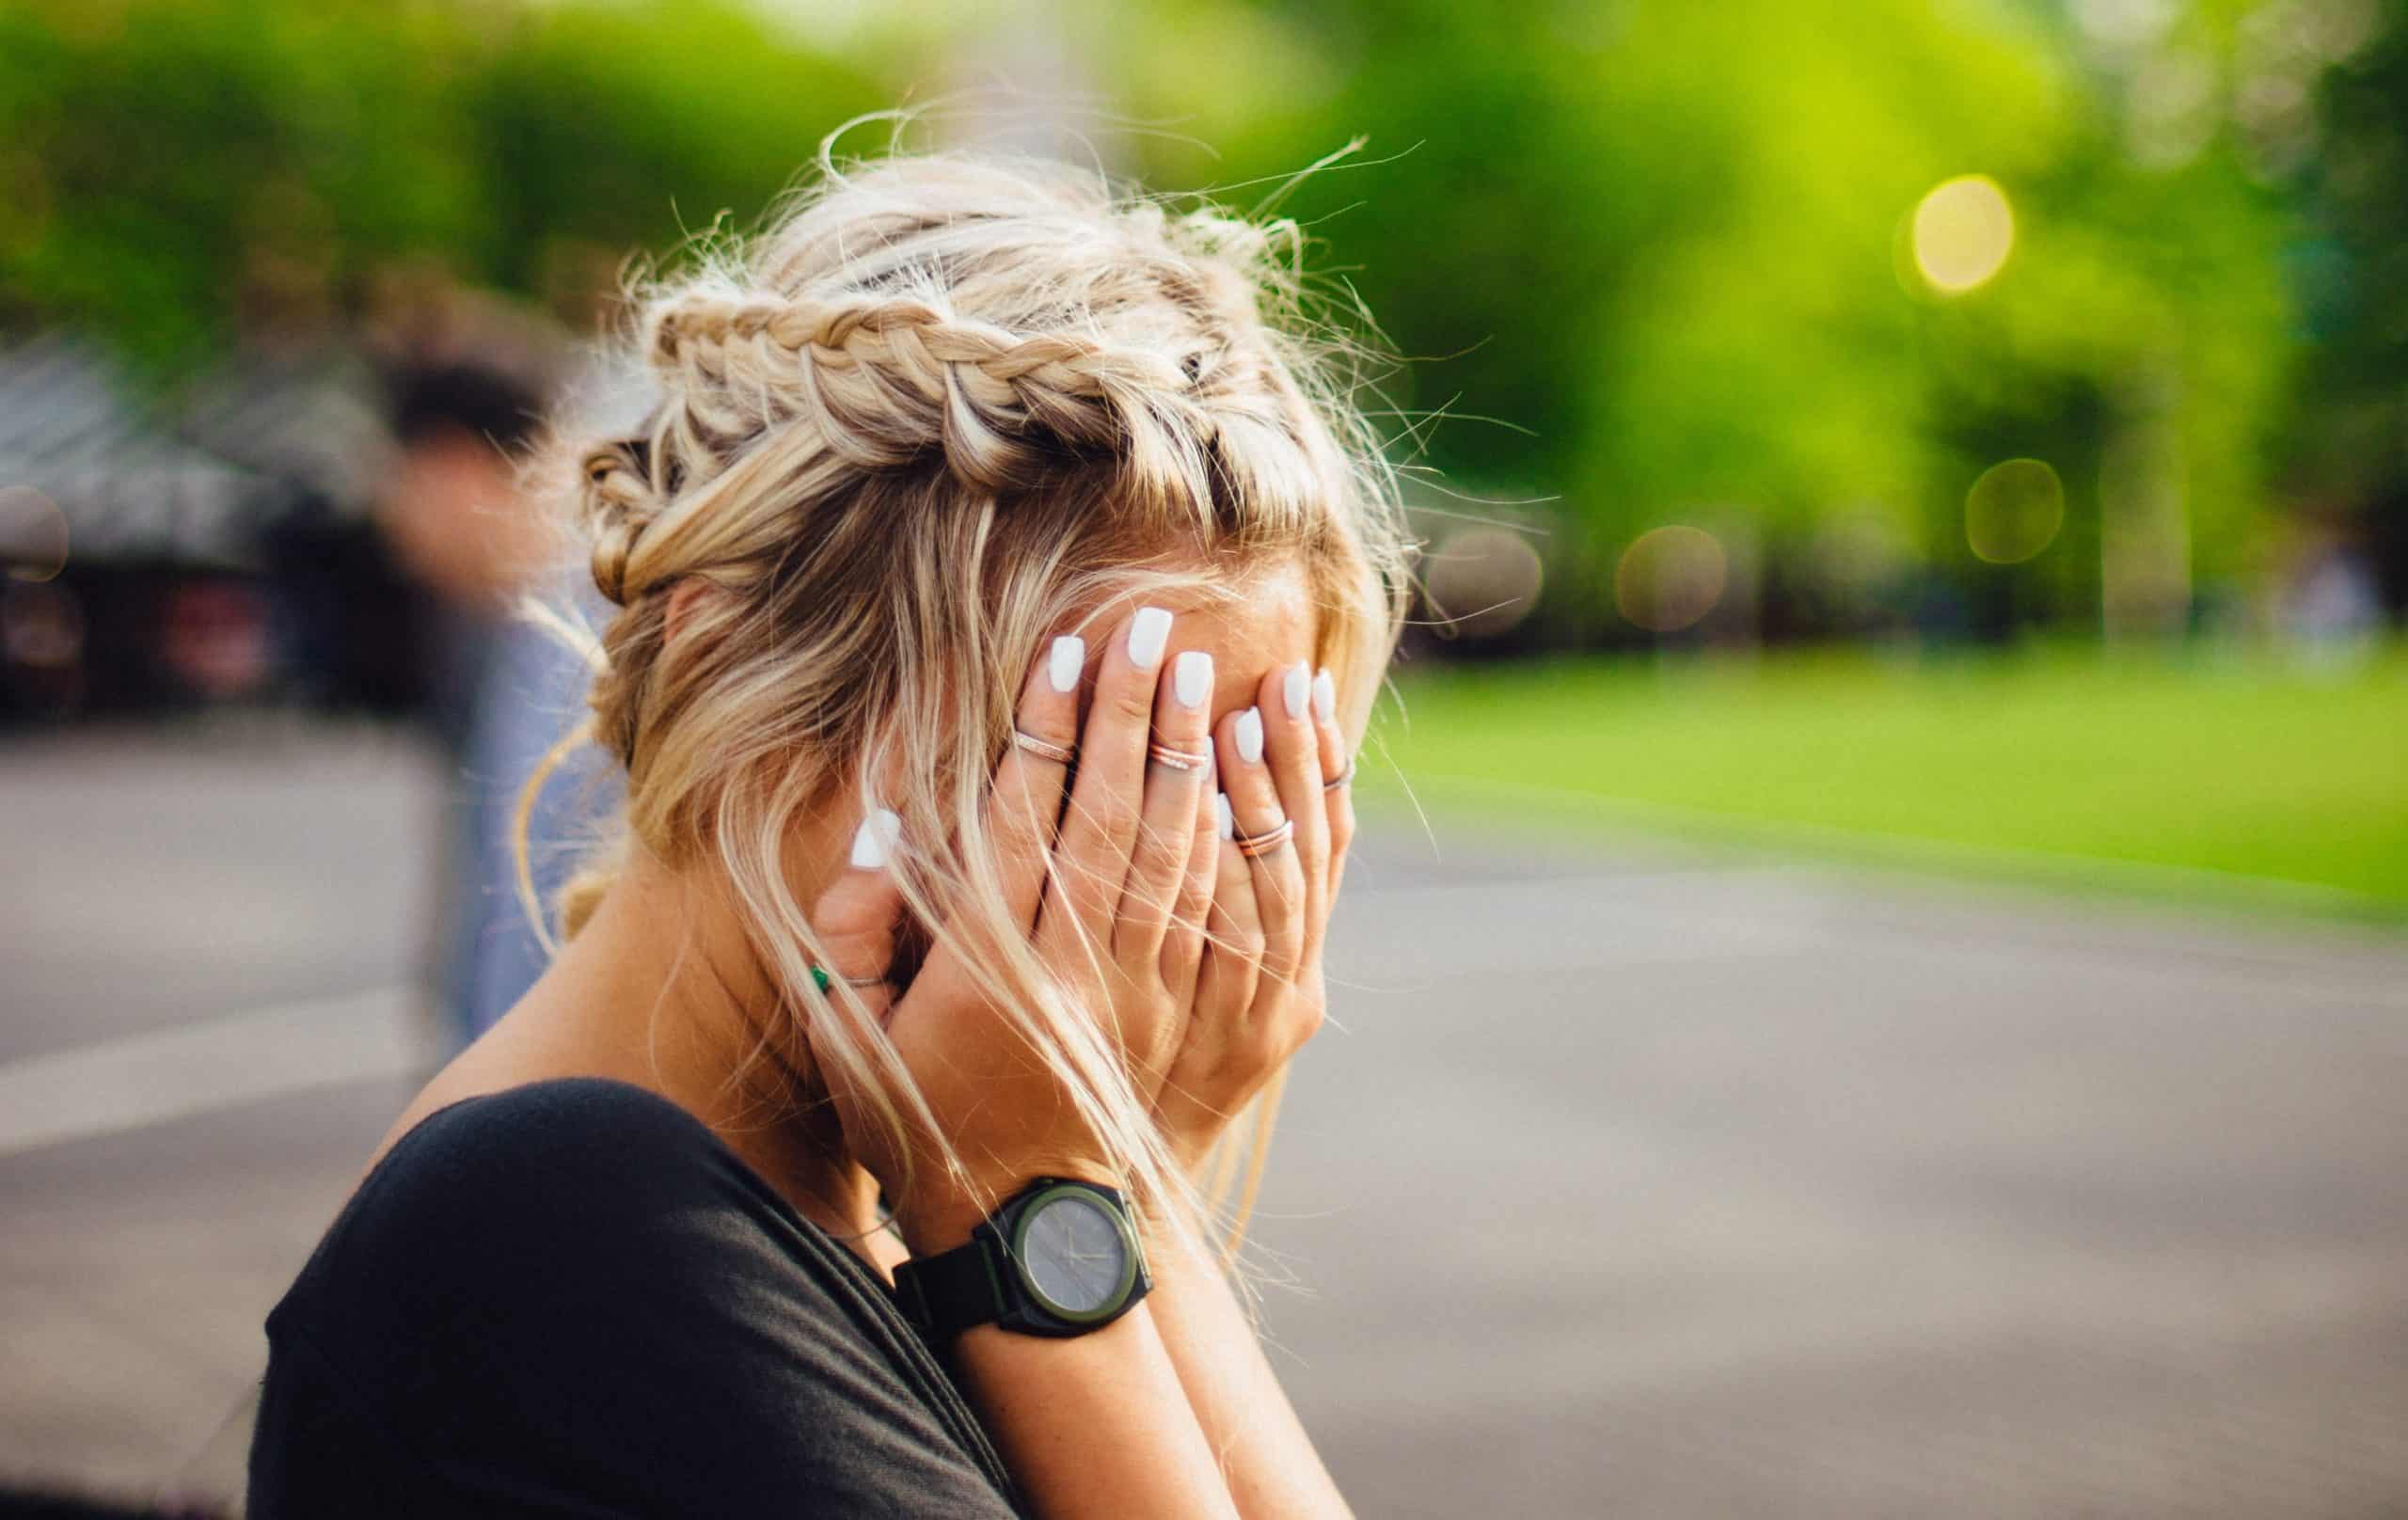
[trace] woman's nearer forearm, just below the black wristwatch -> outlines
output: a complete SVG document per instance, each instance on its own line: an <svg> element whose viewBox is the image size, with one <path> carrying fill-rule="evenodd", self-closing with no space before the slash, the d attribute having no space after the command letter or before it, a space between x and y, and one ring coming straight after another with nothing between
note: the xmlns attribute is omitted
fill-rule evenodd
<svg viewBox="0 0 2408 1520"><path fill-rule="evenodd" d="M1103 1330L1047 1339L978 1325L954 1363L1038 1515L1238 1515L1141 1298Z"/></svg>

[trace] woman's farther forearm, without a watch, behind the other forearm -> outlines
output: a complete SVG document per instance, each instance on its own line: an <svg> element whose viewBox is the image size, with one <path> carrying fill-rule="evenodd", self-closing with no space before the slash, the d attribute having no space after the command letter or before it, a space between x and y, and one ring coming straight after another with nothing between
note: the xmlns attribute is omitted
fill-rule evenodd
<svg viewBox="0 0 2408 1520"><path fill-rule="evenodd" d="M1202 1238L1202 1226L1194 1233ZM1144 1243L1153 1269L1146 1303L1238 1513L1245 1520L1351 1520L1353 1510L1312 1450L1228 1277L1161 1221L1149 1219Z"/></svg>

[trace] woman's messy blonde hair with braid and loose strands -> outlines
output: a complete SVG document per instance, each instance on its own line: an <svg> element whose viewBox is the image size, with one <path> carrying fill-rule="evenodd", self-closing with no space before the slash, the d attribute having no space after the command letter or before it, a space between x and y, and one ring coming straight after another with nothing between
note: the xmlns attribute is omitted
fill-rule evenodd
<svg viewBox="0 0 2408 1520"><path fill-rule="evenodd" d="M896 809L910 918L951 925L1139 1207L1180 1195L1221 1216L1250 1149L1223 1226L1235 1262L1281 1082L1230 1125L1199 1195L1011 920L980 807L1040 643L1132 590L1235 597L1300 564L1315 658L1363 730L1413 554L1353 400L1375 349L1317 316L1291 219L1175 210L1016 154L838 164L833 142L766 231L713 236L636 291L633 347L657 385L638 436L554 441L551 501L619 612L588 650L588 720L520 795L520 894L544 932L525 821L559 759L602 744L626 807L561 889L561 937L628 850L708 860L775 1017L799 1024L787 1048L807 1033L879 1123L937 1130L874 1021L836 1007L855 992L811 980L809 903L783 870L819 809ZM667 590L689 578L718 595L681 609L672 646ZM901 778L898 795L872 795L877 778ZM966 1180L949 1139L944 1163Z"/></svg>

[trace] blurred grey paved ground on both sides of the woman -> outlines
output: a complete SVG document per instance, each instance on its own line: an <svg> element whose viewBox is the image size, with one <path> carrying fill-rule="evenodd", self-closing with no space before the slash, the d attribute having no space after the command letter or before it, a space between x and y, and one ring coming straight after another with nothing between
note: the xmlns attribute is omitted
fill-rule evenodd
<svg viewBox="0 0 2408 1520"><path fill-rule="evenodd" d="M234 1481L433 785L0 752L0 1474ZM1334 944L1255 1238L1365 1518L2408 1508L2408 944L1406 819Z"/></svg>

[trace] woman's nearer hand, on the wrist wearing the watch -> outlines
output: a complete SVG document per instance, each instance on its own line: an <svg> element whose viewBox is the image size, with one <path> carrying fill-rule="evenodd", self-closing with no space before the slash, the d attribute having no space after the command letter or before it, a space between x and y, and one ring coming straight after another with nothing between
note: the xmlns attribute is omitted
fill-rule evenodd
<svg viewBox="0 0 2408 1520"><path fill-rule="evenodd" d="M1081 732L1086 648L1074 636L1057 638L1028 674L1019 727L1047 744L1076 744L1069 809L1062 809L1069 766L1019 744L1004 752L985 802L1011 923L1093 1017L1105 1055L1127 1062L1139 1103L1151 1103L1178 1053L1218 853L1211 771L1149 764L1146 747L1156 740L1211 752L1211 655L1168 658L1168 648L1170 614L1158 607L1141 607L1112 629ZM891 829L893 814L862 824L850 870L811 913L831 976L881 976L893 959L903 903L884 870ZM937 1132L961 1154L970 1188L946 1173L937 1135L908 1110L898 1144L845 1074L816 1062L852 1156L886 1188L913 1253L966 1241L1033 1176L1125 1185L1069 1089L963 964L961 949L975 932L942 925L901 1000L891 1002L886 985L855 988L910 1070ZM848 1012L845 997L831 992L831 1000Z"/></svg>

